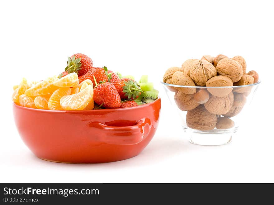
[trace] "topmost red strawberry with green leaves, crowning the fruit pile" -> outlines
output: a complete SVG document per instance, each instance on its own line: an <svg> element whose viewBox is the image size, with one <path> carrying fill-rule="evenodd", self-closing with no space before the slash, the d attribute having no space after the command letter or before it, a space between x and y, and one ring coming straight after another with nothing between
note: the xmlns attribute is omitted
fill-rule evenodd
<svg viewBox="0 0 274 205"><path fill-rule="evenodd" d="M90 57L77 53L69 57L67 64L65 71L68 71L68 73L75 72L78 76L83 76L92 68L93 62Z"/></svg>

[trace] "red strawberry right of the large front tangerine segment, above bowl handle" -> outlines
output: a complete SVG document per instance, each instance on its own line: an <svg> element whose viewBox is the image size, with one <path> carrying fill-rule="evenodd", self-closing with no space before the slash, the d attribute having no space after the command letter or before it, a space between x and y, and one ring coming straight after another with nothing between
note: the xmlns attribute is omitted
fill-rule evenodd
<svg viewBox="0 0 274 205"><path fill-rule="evenodd" d="M118 91L112 83L95 82L95 88L93 89L93 100L97 105L102 105L104 108L119 108L121 106L121 98Z"/></svg>

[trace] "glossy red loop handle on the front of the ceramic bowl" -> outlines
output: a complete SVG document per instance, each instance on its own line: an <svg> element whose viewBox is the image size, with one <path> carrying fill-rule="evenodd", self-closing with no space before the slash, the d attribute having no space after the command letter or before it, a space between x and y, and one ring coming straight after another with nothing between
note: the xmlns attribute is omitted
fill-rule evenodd
<svg viewBox="0 0 274 205"><path fill-rule="evenodd" d="M149 130L144 129L146 125L149 125L149 120L139 120L132 126L107 126L100 122L91 122L88 127L101 129L98 132L98 140L106 144L119 144L130 145L138 144L149 133ZM146 133L144 133L145 131ZM94 133L93 133L94 134Z"/></svg>

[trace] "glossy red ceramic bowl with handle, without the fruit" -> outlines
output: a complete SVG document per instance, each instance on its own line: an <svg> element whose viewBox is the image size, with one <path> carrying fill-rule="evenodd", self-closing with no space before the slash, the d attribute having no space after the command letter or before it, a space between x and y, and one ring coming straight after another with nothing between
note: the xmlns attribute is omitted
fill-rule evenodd
<svg viewBox="0 0 274 205"><path fill-rule="evenodd" d="M63 163L102 163L138 155L157 129L161 99L129 108L39 110L13 104L15 124L39 158Z"/></svg>

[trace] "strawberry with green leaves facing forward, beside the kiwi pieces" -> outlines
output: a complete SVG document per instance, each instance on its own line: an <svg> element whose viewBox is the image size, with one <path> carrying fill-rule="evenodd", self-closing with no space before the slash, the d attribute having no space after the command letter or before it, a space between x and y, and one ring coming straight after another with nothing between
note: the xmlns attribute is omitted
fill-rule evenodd
<svg viewBox="0 0 274 205"><path fill-rule="evenodd" d="M121 99L132 99L138 98L141 92L143 92L137 82L130 78L122 78L118 80L115 87L120 95Z"/></svg>

